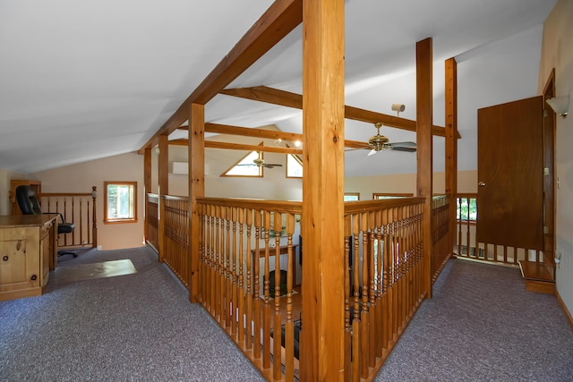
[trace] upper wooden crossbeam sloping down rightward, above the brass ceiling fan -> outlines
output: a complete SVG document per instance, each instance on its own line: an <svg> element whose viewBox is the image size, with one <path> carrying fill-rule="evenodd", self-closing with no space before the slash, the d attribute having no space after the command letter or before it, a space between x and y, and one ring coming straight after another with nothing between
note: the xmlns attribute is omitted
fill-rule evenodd
<svg viewBox="0 0 573 382"><path fill-rule="evenodd" d="M268 88L266 86L255 86L252 88L223 89L220 94L227 96L251 99L253 101L266 102L268 104L293 107L295 109L303 108L303 96L289 91ZM411 119L400 118L394 115L385 115L361 109L353 106L345 106L345 118L365 123L383 123L389 127L395 127L409 132L416 131L416 123ZM443 127L432 125L432 135L440 137L446 136ZM461 138L458 133L458 138Z"/></svg>

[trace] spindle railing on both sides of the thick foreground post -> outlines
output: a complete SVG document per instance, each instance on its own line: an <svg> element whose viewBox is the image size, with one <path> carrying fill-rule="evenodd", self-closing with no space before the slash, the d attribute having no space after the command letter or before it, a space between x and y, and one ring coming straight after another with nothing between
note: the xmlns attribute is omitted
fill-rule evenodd
<svg viewBox="0 0 573 382"><path fill-rule="evenodd" d="M201 304L263 376L294 380L298 332L304 326L302 294L294 277L300 232L295 222L302 204L197 201ZM423 199L345 203L341 308L346 380L375 375L423 300L422 217Z"/></svg>

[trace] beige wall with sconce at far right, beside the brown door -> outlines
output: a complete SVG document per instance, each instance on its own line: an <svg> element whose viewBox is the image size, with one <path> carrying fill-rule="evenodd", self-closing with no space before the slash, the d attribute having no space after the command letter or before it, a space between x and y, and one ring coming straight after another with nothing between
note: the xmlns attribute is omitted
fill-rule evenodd
<svg viewBox="0 0 573 382"><path fill-rule="evenodd" d="M543 26L542 59L539 70L538 93L543 88L552 68L555 68L556 96L571 97L573 90L573 44L571 24L573 23L573 1L559 0L545 20ZM556 174L557 226L556 256L560 264L556 269L557 292L567 309L573 312L573 116L557 117Z"/></svg>

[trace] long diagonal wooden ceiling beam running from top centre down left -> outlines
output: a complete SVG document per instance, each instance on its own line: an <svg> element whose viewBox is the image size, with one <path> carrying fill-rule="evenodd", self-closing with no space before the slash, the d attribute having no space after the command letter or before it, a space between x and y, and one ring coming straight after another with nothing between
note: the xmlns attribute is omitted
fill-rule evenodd
<svg viewBox="0 0 573 382"><path fill-rule="evenodd" d="M140 151L155 146L159 135L174 132L188 119L191 104L205 105L301 22L303 0L276 0L271 4Z"/></svg>

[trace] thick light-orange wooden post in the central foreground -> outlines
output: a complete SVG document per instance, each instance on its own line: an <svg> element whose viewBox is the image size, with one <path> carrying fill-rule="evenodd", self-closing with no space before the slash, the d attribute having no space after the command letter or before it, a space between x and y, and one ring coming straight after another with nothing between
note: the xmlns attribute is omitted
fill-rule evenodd
<svg viewBox="0 0 573 382"><path fill-rule="evenodd" d="M301 380L344 378L344 0L303 4Z"/></svg>

